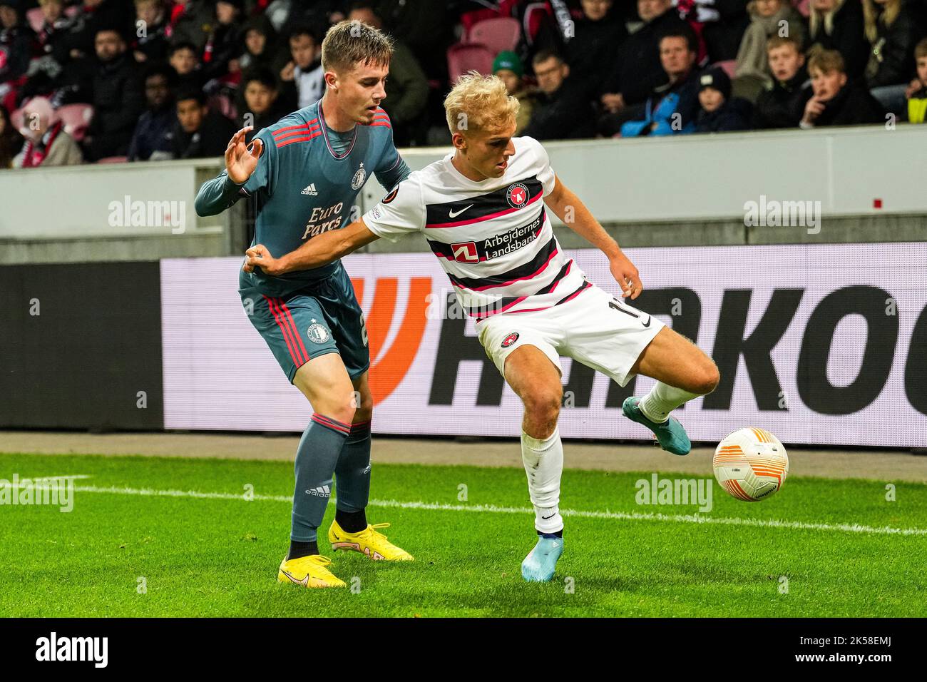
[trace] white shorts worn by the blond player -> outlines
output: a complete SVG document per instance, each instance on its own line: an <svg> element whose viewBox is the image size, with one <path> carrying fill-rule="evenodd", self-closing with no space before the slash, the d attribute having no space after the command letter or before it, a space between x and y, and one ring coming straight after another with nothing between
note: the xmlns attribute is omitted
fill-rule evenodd
<svg viewBox="0 0 927 682"><path fill-rule="evenodd" d="M489 317L476 325L479 342L505 376L505 358L526 343L560 369L560 355L596 369L621 386L647 344L665 325L596 286L572 301L534 313Z"/></svg>

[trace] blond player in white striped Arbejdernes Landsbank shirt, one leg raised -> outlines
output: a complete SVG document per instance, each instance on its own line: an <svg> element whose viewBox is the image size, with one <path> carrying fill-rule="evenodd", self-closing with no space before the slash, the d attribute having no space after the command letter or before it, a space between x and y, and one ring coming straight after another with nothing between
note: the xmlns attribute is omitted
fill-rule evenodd
<svg viewBox="0 0 927 682"><path fill-rule="evenodd" d="M553 173L540 143L513 137L518 101L501 80L466 75L444 107L453 154L410 174L356 223L279 258L256 245L248 265L279 275L331 263L376 238L422 234L475 318L480 343L525 405L522 459L538 541L522 575L545 582L564 548L559 356L622 386L635 374L655 379L643 398L625 401L623 412L676 455L688 454L691 444L669 413L714 391L717 367L691 341L624 301L641 293L637 268ZM608 256L620 298L591 284L565 256L548 211Z"/></svg>

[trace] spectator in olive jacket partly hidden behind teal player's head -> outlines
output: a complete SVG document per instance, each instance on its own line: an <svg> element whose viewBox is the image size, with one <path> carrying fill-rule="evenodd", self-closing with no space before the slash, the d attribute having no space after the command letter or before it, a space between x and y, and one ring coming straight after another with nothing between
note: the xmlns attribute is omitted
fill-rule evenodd
<svg viewBox="0 0 927 682"><path fill-rule="evenodd" d="M378 30L383 29L383 21L375 12L371 0L354 2L350 6L348 19L361 21ZM380 106L389 114L396 146L407 147L413 141L419 141L417 133L425 129L422 119L428 100L428 80L412 50L400 40L393 43L386 90L387 97Z"/></svg>

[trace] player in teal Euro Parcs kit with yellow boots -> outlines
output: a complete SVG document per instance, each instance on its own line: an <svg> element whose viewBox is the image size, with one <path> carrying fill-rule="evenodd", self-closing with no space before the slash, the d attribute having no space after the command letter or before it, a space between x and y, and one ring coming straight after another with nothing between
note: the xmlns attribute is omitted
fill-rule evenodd
<svg viewBox="0 0 927 682"><path fill-rule="evenodd" d="M250 129L238 131L225 150L225 171L200 187L197 213L222 212L242 197L255 200L252 246L275 253L349 225L368 174L384 187L409 174L379 107L391 55L387 36L366 24L342 21L329 29L322 44L324 97L261 130L250 146ZM328 570L331 561L317 545L333 477L332 547L373 560L412 560L376 530L388 524L371 525L364 512L370 494L370 354L344 267L336 261L272 277L246 265L239 293L251 323L313 409L297 450L290 549L277 579L307 587L345 585Z"/></svg>

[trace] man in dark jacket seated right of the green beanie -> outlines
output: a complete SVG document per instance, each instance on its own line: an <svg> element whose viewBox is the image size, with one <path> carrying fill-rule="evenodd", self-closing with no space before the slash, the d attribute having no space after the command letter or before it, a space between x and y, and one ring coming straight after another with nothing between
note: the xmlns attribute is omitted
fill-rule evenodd
<svg viewBox="0 0 927 682"><path fill-rule="evenodd" d="M532 64L541 92L522 135L538 140L591 137L592 109L582 89L571 80L569 65L547 50L538 52Z"/></svg>

